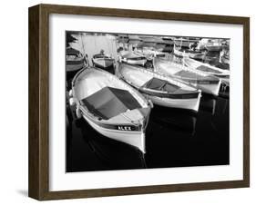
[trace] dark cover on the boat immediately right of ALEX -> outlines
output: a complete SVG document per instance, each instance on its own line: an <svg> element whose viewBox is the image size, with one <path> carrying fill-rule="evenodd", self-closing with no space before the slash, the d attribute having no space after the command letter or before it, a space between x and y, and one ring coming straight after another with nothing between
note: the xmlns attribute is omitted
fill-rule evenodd
<svg viewBox="0 0 256 205"><path fill-rule="evenodd" d="M167 91L169 93L175 93L175 91L180 89L179 86L175 84L170 84L167 81L154 77L150 79L147 83L145 83L144 87L153 90Z"/></svg>

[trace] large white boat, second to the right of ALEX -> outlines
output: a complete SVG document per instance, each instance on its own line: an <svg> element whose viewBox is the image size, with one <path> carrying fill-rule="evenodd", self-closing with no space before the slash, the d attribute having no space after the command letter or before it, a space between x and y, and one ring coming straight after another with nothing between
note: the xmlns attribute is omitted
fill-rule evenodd
<svg viewBox="0 0 256 205"><path fill-rule="evenodd" d="M219 94L221 81L215 76L161 58L154 58L153 65L155 72L170 76L183 83L188 83L197 87L203 93Z"/></svg>

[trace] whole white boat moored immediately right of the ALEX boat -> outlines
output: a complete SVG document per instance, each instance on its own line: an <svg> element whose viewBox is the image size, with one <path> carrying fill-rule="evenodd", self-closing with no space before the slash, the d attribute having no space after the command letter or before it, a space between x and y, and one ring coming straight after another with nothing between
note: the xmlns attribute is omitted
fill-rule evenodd
<svg viewBox="0 0 256 205"><path fill-rule="evenodd" d="M118 75L147 99L161 106L198 112L200 90L139 66L121 63Z"/></svg>

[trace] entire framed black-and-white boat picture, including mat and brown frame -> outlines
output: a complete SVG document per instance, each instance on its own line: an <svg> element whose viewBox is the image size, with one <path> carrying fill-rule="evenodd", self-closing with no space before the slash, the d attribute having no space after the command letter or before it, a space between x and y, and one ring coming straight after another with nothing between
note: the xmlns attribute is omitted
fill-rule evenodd
<svg viewBox="0 0 256 205"><path fill-rule="evenodd" d="M29 197L250 186L250 18L29 8Z"/></svg>

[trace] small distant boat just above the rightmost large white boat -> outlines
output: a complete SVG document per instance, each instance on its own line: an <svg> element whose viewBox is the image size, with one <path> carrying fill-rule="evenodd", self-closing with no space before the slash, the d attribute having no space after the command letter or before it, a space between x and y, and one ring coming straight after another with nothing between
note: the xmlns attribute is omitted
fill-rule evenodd
<svg viewBox="0 0 256 205"><path fill-rule="evenodd" d="M178 55L179 57L187 57L193 59L202 60L205 58L206 53L201 51L193 51L188 48L179 48L178 46L174 45L173 47L173 54Z"/></svg>

